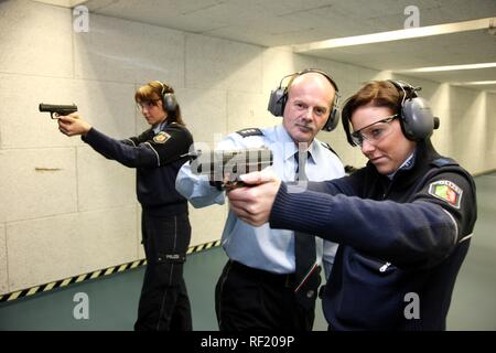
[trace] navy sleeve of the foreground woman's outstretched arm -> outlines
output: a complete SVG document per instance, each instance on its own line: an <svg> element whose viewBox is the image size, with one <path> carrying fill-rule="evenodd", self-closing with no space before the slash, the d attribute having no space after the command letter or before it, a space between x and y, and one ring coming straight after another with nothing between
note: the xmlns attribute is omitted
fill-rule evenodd
<svg viewBox="0 0 496 353"><path fill-rule="evenodd" d="M270 214L274 228L316 234L349 245L370 256L386 258L397 266L430 267L444 259L471 222L471 188L461 175L453 180L466 192L460 208L419 191L411 203L374 201L305 191L288 192L282 184Z"/></svg>

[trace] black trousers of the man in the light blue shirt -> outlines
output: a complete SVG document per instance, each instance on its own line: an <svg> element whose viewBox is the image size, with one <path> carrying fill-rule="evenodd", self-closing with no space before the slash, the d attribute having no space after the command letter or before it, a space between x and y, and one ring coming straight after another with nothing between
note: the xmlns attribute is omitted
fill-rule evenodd
<svg viewBox="0 0 496 353"><path fill-rule="evenodd" d="M305 310L294 274L277 275L228 260L215 288L220 331L311 331L315 301Z"/></svg>

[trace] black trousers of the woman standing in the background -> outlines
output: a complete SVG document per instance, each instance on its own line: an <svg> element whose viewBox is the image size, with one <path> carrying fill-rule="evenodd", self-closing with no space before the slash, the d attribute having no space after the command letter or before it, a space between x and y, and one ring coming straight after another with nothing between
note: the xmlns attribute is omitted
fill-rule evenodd
<svg viewBox="0 0 496 353"><path fill-rule="evenodd" d="M147 270L134 330L191 331L190 299L183 264L191 239L187 214L141 218Z"/></svg>

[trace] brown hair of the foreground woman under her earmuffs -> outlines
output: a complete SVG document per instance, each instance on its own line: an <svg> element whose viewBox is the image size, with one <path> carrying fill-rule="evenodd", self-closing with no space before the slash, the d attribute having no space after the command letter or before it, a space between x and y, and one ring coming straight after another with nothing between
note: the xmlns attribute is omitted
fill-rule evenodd
<svg viewBox="0 0 496 353"><path fill-rule="evenodd" d="M364 106L387 107L395 114L399 114L401 99L402 94L389 81L371 81L365 84L364 87L346 100L343 107L342 122L348 142L355 145L351 136L351 119L356 109Z"/></svg>

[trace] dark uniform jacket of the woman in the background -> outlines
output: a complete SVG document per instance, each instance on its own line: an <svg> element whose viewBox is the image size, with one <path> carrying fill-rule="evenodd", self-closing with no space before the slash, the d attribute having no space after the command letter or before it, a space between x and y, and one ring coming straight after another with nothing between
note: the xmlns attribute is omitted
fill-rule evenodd
<svg viewBox="0 0 496 353"><path fill-rule="evenodd" d="M187 213L187 201L175 190L175 178L193 143L190 131L172 122L155 133L115 140L91 128L83 140L108 159L137 169L137 195L143 211L152 215Z"/></svg>

